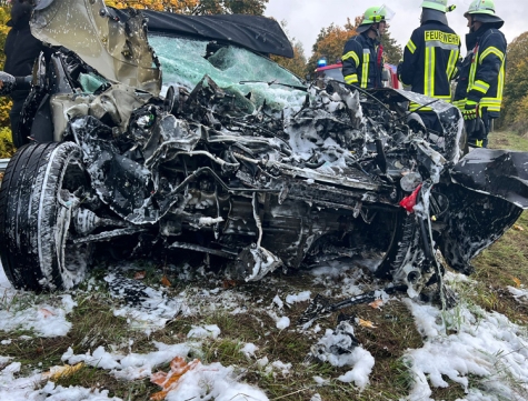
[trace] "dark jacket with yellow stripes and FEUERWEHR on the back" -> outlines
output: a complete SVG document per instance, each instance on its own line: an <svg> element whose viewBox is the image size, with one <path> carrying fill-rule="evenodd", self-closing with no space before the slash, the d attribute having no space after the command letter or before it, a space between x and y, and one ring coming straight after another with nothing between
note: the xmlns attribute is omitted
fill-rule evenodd
<svg viewBox="0 0 528 401"><path fill-rule="evenodd" d="M439 21L426 21L416 29L404 50L399 79L411 90L431 98L451 101L451 80L457 72L460 37ZM420 106L410 103L409 110ZM420 108L420 111L430 111Z"/></svg>

